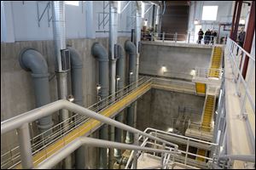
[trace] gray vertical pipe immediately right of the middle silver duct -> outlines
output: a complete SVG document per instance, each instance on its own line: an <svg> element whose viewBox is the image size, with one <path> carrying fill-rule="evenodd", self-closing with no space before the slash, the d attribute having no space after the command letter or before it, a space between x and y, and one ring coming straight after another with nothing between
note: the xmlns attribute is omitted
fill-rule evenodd
<svg viewBox="0 0 256 170"><path fill-rule="evenodd" d="M118 60L117 60L117 71L116 71L116 76L119 78L117 79L117 91L120 89L124 88L124 80L125 80L125 54L124 54L124 48L120 46L119 44L117 45L118 48ZM115 120L118 122L123 122L123 116L124 116L124 111L121 111L118 116L115 117ZM122 143L122 136L123 136L123 131L117 127L114 129L114 141ZM116 157L117 160L122 156L121 155L121 150L114 150L114 156Z"/></svg>

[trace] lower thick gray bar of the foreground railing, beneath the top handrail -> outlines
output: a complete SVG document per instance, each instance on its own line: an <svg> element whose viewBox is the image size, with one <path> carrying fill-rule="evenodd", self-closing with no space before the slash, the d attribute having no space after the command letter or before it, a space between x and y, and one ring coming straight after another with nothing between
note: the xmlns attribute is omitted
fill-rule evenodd
<svg viewBox="0 0 256 170"><path fill-rule="evenodd" d="M73 140L73 142L67 144L61 150L58 150L54 155L49 156L47 159L38 164L35 169L49 169L54 167L55 164L60 162L65 157L69 156L73 150L79 148L79 146L86 144L86 146L97 146L102 148L118 148L120 150L142 150L158 153L172 153L170 150L157 150L148 147L137 146L133 144L121 144L117 142L106 141L102 139L91 139L87 137L79 137L79 139Z"/></svg>

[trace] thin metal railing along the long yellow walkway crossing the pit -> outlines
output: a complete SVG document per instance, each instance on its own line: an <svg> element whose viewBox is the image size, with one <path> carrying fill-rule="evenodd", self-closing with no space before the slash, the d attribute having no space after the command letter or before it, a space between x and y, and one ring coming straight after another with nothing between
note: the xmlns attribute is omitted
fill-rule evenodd
<svg viewBox="0 0 256 170"><path fill-rule="evenodd" d="M119 102L122 102L125 97L129 97L130 95L133 95L136 90L140 90L141 88L145 88L145 92L153 87L151 85L152 83L161 82L165 84L164 80L161 80L160 78L151 78L151 77L141 77L138 82L134 82L131 85L119 90L115 94L112 94L108 96L106 99L102 99L99 102L97 102L95 105L91 105L88 109L90 111L96 111L98 113L101 113L103 111L106 111L109 109L109 106L117 105ZM138 86L137 86L138 84ZM149 88L148 85L150 86ZM184 82L173 82L173 81L167 81L165 84L166 86L169 86L173 88L172 90L178 91L176 88L183 88L186 89L185 91L188 93L191 89L191 84L184 84ZM193 85L192 85L193 87ZM195 85L194 85L195 87ZM183 92L185 92L183 91ZM194 90L195 91L195 90ZM137 97L137 95L142 94L134 94L133 98ZM113 98L114 96L114 98ZM126 99L125 99L126 100ZM127 102L127 101L125 101ZM131 101L130 101L131 102ZM127 104L123 103L121 105L127 106ZM109 111L108 111L109 112ZM111 112L111 111L110 111ZM118 112L118 111L116 111ZM107 116L107 115L106 115ZM108 115L109 116L109 115ZM113 115L112 115L113 116ZM54 127L49 129L49 131L52 131L53 133L50 133L49 136L46 135L48 132L44 132L41 134L38 134L37 136L32 136L31 144L32 144L32 155L35 156L38 154L36 158L34 158L34 163L38 164L40 161L43 161L45 157L52 154L52 152L55 152L55 150L48 150L48 148L51 147L51 144L55 144L58 141L62 141L60 144L56 145L57 149L61 148L61 144L67 143L67 141L74 139L73 136L68 136L69 133L72 133L74 129L79 129L77 133L81 133L85 130L88 131L88 133L92 133L93 130L96 130L95 128L92 128L96 125L96 121L90 122L90 119L88 116L83 116L79 114L73 114L68 120L66 120L68 123L68 127L63 126L64 124L67 124L65 122L61 122L56 124ZM1 122L2 123L2 122ZM86 124L84 126L84 124ZM30 123L31 124L31 123ZM100 126L100 125L98 125ZM63 133L65 132L65 133ZM17 133L16 133L17 134ZM65 142L65 140L67 140ZM41 154L44 151L44 154ZM48 153L49 152L49 153ZM9 151L4 152L1 155L1 167L2 168L14 168L14 167L20 167L20 146L16 146L13 148L10 148Z"/></svg>

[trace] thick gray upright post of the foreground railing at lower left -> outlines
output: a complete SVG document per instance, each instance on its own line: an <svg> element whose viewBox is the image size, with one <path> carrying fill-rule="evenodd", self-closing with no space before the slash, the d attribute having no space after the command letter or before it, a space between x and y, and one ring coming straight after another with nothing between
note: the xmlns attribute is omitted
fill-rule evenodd
<svg viewBox="0 0 256 170"><path fill-rule="evenodd" d="M25 123L19 127L17 129L17 133L20 144L20 159L22 168L31 169L33 167L33 161L28 123Z"/></svg>

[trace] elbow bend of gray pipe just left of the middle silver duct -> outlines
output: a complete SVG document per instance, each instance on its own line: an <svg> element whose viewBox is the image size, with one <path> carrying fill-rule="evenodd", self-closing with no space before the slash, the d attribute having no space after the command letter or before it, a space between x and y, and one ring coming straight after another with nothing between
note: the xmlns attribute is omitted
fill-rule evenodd
<svg viewBox="0 0 256 170"><path fill-rule="evenodd" d="M91 54L99 61L108 61L108 53L101 43L95 42L91 48Z"/></svg>

